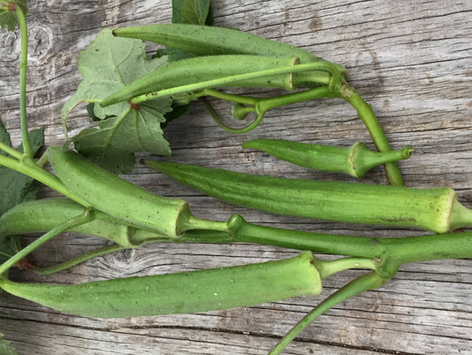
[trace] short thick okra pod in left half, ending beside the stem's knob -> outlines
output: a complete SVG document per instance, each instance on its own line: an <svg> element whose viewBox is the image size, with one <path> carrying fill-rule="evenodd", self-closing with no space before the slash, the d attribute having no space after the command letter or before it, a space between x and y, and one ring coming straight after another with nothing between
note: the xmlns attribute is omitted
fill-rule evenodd
<svg viewBox="0 0 472 355"><path fill-rule="evenodd" d="M181 235L193 217L181 199L159 197L108 173L72 150L50 147L54 172L66 189L121 223L168 237Z"/></svg>

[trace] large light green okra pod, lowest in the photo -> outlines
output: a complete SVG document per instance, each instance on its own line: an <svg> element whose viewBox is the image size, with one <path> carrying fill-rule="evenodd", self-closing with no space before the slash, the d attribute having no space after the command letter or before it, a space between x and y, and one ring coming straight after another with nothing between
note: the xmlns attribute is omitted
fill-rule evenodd
<svg viewBox="0 0 472 355"><path fill-rule="evenodd" d="M54 310L99 318L196 313L321 293L310 251L281 261L77 285L12 282L0 288Z"/></svg>

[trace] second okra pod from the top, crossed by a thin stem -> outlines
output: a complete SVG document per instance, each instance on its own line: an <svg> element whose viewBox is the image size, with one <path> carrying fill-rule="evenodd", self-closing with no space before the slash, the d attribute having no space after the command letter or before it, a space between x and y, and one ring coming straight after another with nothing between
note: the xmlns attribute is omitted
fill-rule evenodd
<svg viewBox="0 0 472 355"><path fill-rule="evenodd" d="M282 68L298 64L297 57L271 58L259 56L208 56L182 59L160 66L158 69L133 81L130 85L104 98L101 106L127 101L135 96L149 94L200 81L221 79L242 73ZM327 73L328 74L328 73ZM249 81L235 81L236 87L277 87L294 89L292 73L262 76Z"/></svg>

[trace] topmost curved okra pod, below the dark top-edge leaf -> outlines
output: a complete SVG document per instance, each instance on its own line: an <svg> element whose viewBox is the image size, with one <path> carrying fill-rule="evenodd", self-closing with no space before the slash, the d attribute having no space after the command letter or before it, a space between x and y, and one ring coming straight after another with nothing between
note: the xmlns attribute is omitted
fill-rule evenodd
<svg viewBox="0 0 472 355"><path fill-rule="evenodd" d="M157 24L140 27L124 27L113 30L119 37L137 38L156 42L176 50L184 50L196 56L247 54L265 57L298 57L300 63L322 60L312 53L288 43L268 40L234 28L210 27L188 24ZM339 72L347 75L343 66Z"/></svg>

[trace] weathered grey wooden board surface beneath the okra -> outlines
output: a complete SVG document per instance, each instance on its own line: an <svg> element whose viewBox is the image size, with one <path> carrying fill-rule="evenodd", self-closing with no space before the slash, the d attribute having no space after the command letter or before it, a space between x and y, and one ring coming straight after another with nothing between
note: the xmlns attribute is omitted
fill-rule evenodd
<svg viewBox="0 0 472 355"><path fill-rule="evenodd" d="M170 1L28 1L31 42L28 119L45 127L47 145L63 142L60 108L81 75L77 55L106 27L166 23ZM213 2L215 26L236 27L290 42L343 64L350 82L372 104L393 148L408 144L401 162L406 185L449 186L472 207L472 2L464 1L229 1ZM18 144L18 34L0 32L0 118ZM262 92L262 90L260 90ZM217 110L227 109L214 103ZM69 122L72 133L89 126L84 106ZM173 160L294 178L355 181L282 163L242 150L252 138L349 146L370 143L352 108L337 99L293 104L267 113L245 135L222 131L204 109L166 128ZM418 235L415 230L352 226L254 212L202 196L161 174L136 166L128 180L169 197L183 197L202 218L225 220L239 212L262 225L351 235ZM385 183L382 168L366 182ZM41 189L41 197L53 195ZM32 237L26 238L26 242ZM34 253L46 266L104 245L97 238L65 234ZM240 265L295 255L251 244L153 244L93 259L64 273L18 280L84 282L137 274L164 274ZM337 274L319 297L222 312L98 320L74 317L0 294L0 332L19 354L265 354L314 305L360 272ZM382 288L338 305L307 328L287 354L472 354L470 260L403 266Z"/></svg>

